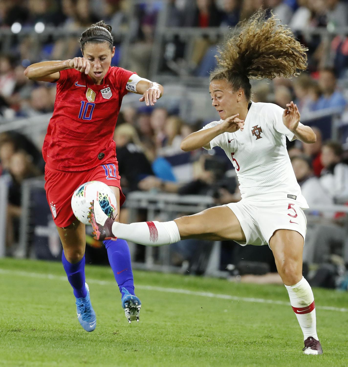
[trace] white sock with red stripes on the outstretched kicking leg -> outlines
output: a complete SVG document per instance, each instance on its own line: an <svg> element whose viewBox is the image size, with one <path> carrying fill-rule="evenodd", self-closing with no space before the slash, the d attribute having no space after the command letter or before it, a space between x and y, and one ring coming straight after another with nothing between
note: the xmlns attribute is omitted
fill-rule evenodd
<svg viewBox="0 0 348 367"><path fill-rule="evenodd" d="M161 246L180 241L179 229L174 221L131 224L114 222L112 233L123 240L147 246Z"/></svg>

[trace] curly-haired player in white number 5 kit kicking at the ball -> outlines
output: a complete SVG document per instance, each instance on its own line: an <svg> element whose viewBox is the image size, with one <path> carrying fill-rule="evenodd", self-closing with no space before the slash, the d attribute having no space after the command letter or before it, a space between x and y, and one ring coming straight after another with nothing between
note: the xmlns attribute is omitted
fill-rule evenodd
<svg viewBox="0 0 348 367"><path fill-rule="evenodd" d="M225 150L237 172L242 200L209 208L171 222L121 224L108 219L97 203L90 220L96 238L118 237L150 246L180 239L234 240L266 245L288 291L304 334L304 353L322 354L316 333L314 297L302 276L302 250L308 208L286 150L286 137L314 143L316 135L302 125L293 102L283 110L272 103L250 101L250 79L291 77L306 69L306 48L289 29L259 12L232 34L211 73L209 93L220 120L186 137L185 151L200 147Z"/></svg>

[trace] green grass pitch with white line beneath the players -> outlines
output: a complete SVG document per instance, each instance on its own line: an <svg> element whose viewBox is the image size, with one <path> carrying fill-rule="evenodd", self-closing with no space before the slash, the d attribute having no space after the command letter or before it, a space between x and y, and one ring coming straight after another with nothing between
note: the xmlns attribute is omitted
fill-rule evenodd
<svg viewBox="0 0 348 367"><path fill-rule="evenodd" d="M314 289L324 354L305 356L283 286L134 277L143 306L129 325L111 269L86 266L97 314L86 333L60 263L0 259L0 366L348 366L346 292Z"/></svg>

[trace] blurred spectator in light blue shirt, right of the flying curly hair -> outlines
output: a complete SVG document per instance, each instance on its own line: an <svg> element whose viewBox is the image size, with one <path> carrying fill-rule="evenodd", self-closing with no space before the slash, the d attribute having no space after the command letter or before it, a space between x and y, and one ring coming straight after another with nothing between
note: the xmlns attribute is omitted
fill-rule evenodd
<svg viewBox="0 0 348 367"><path fill-rule="evenodd" d="M318 109L337 108L343 112L347 101L337 89L336 76L332 69L322 69L319 73L319 87L322 92L316 103Z"/></svg>

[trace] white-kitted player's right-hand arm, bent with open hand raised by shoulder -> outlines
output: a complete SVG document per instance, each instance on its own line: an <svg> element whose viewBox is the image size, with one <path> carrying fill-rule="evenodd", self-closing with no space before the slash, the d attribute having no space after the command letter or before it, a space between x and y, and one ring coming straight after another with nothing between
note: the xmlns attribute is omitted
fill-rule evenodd
<svg viewBox="0 0 348 367"><path fill-rule="evenodd" d="M316 142L316 135L309 127L299 124L301 115L299 114L297 106L293 101L288 103L287 108L283 112L283 124L295 134L295 137L307 144Z"/></svg>

